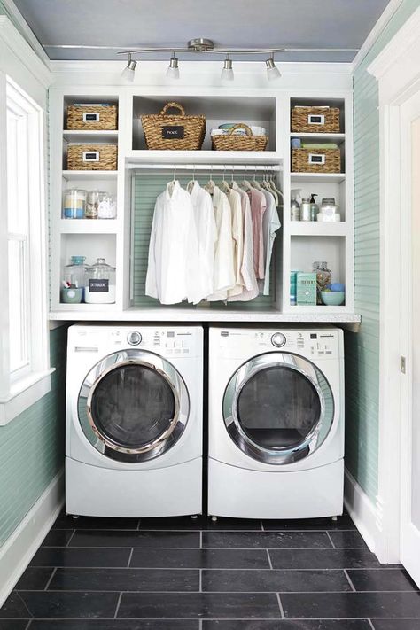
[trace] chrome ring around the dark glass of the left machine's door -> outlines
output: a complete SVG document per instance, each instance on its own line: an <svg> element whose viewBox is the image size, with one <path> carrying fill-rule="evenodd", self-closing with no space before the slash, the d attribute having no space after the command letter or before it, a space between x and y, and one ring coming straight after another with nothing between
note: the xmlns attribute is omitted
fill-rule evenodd
<svg viewBox="0 0 420 630"><path fill-rule="evenodd" d="M166 431L161 433L158 438L138 448L121 447L112 439L107 438L97 428L97 424L92 415L92 398L97 389L97 385L99 385L102 379L112 372L113 369L118 369L125 365L141 365L157 372L170 387L175 401L175 413L169 421L169 426ZM83 392L83 390L85 391ZM81 408L84 411L82 416ZM144 455L144 459L151 459L153 456L161 455L165 445L172 446L172 444L175 443L174 439L176 440L180 437L188 421L190 399L183 377L181 377L172 363L151 351L145 351L140 348L128 348L108 354L89 370L88 374L83 379L82 387L79 391L78 412L82 431L89 439L92 446L96 447L98 451L103 453L105 447L108 447L112 449L115 454L125 454L128 455L128 457L132 455L134 458ZM174 438L175 429L177 430L176 438ZM137 459L137 461L142 460Z"/></svg>

